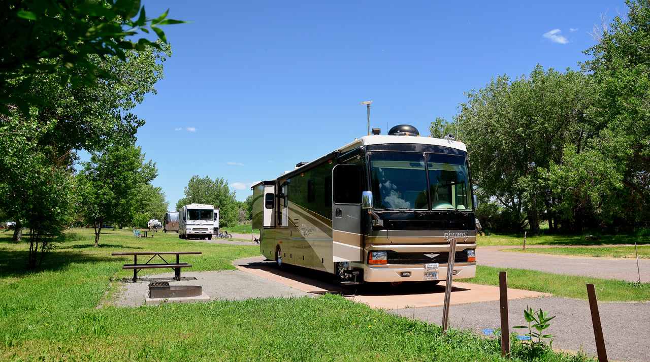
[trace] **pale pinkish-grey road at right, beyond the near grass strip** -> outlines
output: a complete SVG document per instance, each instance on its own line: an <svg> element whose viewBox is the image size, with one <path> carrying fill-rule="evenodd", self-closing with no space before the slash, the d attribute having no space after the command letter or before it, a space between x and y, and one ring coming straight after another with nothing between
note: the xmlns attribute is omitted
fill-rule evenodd
<svg viewBox="0 0 650 362"><path fill-rule="evenodd" d="M593 257L564 257L537 253L497 252L478 248L478 265L495 268L519 268L569 276L638 281L636 260L612 260ZM640 260L641 281L650 281L650 260Z"/></svg>

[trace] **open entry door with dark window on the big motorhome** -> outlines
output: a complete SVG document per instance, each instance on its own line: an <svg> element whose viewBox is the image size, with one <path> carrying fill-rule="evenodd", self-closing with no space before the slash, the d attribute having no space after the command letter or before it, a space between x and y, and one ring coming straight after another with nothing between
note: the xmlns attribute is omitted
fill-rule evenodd
<svg viewBox="0 0 650 362"><path fill-rule="evenodd" d="M332 170L333 261L363 261L361 167L337 164Z"/></svg>

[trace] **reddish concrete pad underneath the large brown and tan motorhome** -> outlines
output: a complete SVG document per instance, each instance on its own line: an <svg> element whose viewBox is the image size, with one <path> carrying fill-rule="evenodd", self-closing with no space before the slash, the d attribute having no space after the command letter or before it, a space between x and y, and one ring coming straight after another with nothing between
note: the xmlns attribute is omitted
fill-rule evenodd
<svg viewBox="0 0 650 362"><path fill-rule="evenodd" d="M439 285L427 283L372 283L359 289L346 289L332 282L334 276L324 272L291 266L289 270L278 270L272 261L254 257L235 261L242 272L275 281L310 294L326 292L343 294L345 298L369 305L372 308L400 309L406 307L435 307L444 304L445 282ZM538 298L552 294L508 289L508 299ZM467 304L499 300L499 287L453 281L450 303Z"/></svg>

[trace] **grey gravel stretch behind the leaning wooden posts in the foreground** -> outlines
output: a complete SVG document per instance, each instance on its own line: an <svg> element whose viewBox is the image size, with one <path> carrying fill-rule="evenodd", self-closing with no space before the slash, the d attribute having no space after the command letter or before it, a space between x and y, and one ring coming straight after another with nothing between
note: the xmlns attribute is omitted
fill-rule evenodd
<svg viewBox="0 0 650 362"><path fill-rule="evenodd" d="M510 300L508 318L511 333L524 335L528 331L512 328L527 325L523 317L526 305L556 316L547 330L556 335L554 348L576 351L582 348L588 355L596 355L588 302L558 297ZM650 361L650 303L600 303L599 311L610 360ZM393 309L388 313L439 325L443 307ZM482 330L494 330L499 324L499 302L450 306L449 325L454 328L473 329L482 334Z"/></svg>

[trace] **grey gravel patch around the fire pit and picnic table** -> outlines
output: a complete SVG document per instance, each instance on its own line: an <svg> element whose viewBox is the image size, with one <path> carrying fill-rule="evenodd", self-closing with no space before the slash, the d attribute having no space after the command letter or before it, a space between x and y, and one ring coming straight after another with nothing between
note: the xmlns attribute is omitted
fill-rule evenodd
<svg viewBox="0 0 650 362"><path fill-rule="evenodd" d="M123 290L116 298L118 307L136 307L144 305L144 298L149 290L150 281L169 281L171 285L200 285L210 300L245 300L251 298L269 298L272 296L292 297L311 294L298 291L264 278L241 272L240 270L221 270L212 272L183 272L181 281L174 281L174 272L155 274L123 283ZM196 279L194 279L196 278Z"/></svg>

